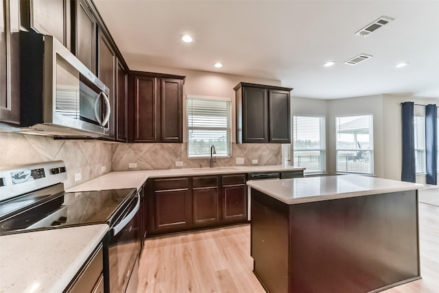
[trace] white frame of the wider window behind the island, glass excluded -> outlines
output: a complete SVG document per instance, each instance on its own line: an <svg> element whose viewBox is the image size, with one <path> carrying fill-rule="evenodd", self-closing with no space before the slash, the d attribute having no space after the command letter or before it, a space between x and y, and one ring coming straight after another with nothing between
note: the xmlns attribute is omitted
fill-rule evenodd
<svg viewBox="0 0 439 293"><path fill-rule="evenodd" d="M372 145L372 148L357 148L357 145L355 145L355 148L350 148L350 149L339 149L338 148L338 139L337 139L337 119L339 118L344 118L344 117L361 117L361 116L368 116L370 117L370 125L369 125L369 144ZM366 175L366 176L375 176L375 166L374 166L374 161L375 161L375 152L374 152L374 115L372 113L366 113L366 114L355 114L355 115L338 115L335 116L335 172L337 174L359 174L359 175ZM370 162L369 162L369 167L370 167L370 172L352 172L352 171L343 171L340 170L339 167L339 159L338 159L338 153L339 152L359 152L359 151L366 151L369 152L370 154ZM347 164L347 159L346 159L346 164ZM347 169L347 168L346 168Z"/></svg>

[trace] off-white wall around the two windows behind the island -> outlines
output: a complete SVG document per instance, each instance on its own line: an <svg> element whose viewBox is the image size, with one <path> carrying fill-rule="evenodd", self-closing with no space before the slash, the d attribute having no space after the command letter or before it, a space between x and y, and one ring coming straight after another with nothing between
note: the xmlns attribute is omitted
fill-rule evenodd
<svg viewBox="0 0 439 293"><path fill-rule="evenodd" d="M327 173L335 174L335 117L343 115L373 115L374 172L375 176L401 180L402 134L401 103L438 104L439 99L411 95L374 95L346 99L292 98L292 115L326 116ZM423 115L425 108L415 106L415 114ZM416 182L425 183L425 175L416 176Z"/></svg>

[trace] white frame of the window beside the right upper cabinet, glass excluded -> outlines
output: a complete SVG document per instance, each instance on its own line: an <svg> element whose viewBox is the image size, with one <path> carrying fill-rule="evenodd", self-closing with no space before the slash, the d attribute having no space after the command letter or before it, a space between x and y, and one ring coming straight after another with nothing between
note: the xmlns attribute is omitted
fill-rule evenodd
<svg viewBox="0 0 439 293"><path fill-rule="evenodd" d="M318 118L319 119L319 126L320 126L320 136L319 136L319 143L320 148L315 149L306 149L306 148L295 148L294 142L296 141L296 117L306 117L306 118ZM327 141L326 141L326 116L324 115L293 115L293 121L292 121L292 132L293 132L293 139L292 139L292 145L293 145L293 165L298 167L306 167L306 166L300 166L300 164L296 164L296 152L319 152L320 156L320 166L322 167L321 170L309 170L305 169L304 174L326 174L327 173Z"/></svg>

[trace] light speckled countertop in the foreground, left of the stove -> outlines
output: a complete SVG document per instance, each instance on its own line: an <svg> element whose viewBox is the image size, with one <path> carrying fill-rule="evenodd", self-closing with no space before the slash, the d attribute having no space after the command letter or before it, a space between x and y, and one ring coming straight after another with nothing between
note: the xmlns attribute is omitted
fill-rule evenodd
<svg viewBox="0 0 439 293"><path fill-rule="evenodd" d="M0 236L0 292L62 292L107 231L97 224Z"/></svg>

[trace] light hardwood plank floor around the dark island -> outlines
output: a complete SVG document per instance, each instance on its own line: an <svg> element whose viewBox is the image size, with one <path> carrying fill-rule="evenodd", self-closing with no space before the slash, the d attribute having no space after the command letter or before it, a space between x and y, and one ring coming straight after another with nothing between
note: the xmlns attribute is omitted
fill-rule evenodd
<svg viewBox="0 0 439 293"><path fill-rule="evenodd" d="M439 292L439 207L419 204L423 279L386 293ZM250 226L145 241L137 292L265 292L252 273Z"/></svg>

